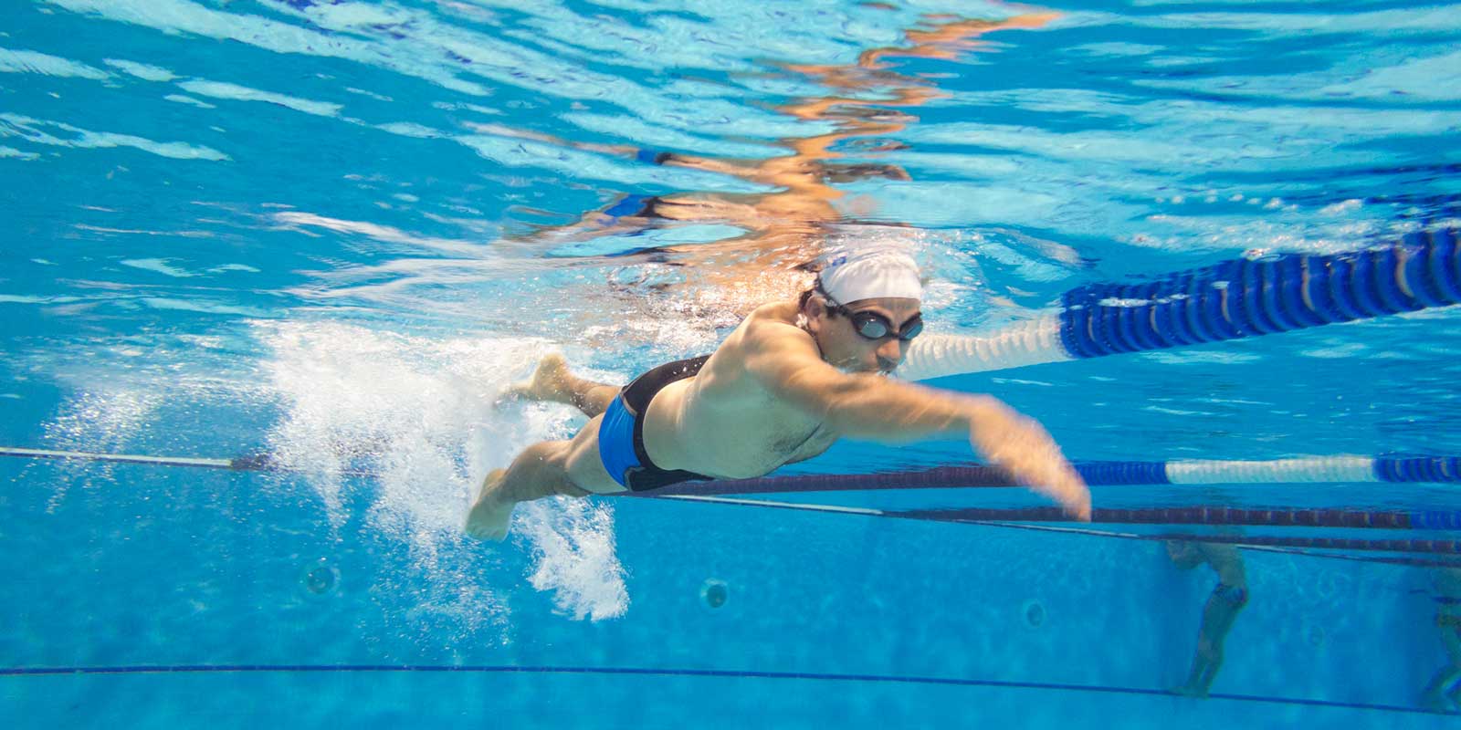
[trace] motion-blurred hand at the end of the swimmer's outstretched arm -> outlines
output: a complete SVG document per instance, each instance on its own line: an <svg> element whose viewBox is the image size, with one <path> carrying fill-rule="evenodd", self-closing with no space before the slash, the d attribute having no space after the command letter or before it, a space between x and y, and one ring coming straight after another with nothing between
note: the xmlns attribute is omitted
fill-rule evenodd
<svg viewBox="0 0 1461 730"><path fill-rule="evenodd" d="M1091 520L1090 489L1043 426L991 397L979 399L974 409L969 442L979 456L1055 499L1075 520Z"/></svg>

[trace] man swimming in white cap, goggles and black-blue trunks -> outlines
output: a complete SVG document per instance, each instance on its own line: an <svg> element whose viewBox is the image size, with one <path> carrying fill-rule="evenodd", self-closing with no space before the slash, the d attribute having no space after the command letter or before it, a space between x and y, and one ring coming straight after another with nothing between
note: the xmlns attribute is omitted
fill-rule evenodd
<svg viewBox="0 0 1461 730"><path fill-rule="evenodd" d="M660 365L624 388L543 358L516 393L590 420L571 441L535 444L487 474L468 534L507 537L517 502L763 476L843 437L967 437L986 460L1090 520L1090 492L1039 423L989 396L882 377L923 328L922 296L912 257L863 251L834 258L798 301L757 308L713 355Z"/></svg>

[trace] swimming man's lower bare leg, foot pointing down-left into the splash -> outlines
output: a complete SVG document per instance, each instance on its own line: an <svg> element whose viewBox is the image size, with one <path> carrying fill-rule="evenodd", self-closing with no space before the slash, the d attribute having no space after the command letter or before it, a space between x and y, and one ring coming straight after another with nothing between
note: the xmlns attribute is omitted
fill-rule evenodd
<svg viewBox="0 0 1461 730"><path fill-rule="evenodd" d="M533 444L506 470L487 474L466 515L466 533L482 540L506 539L517 502L622 492L599 460L599 420L589 420L573 441Z"/></svg>

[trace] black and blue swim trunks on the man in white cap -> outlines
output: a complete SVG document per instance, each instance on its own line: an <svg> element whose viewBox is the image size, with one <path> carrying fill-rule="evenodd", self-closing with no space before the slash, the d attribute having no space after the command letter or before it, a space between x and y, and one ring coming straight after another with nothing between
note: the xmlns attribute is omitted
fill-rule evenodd
<svg viewBox="0 0 1461 730"><path fill-rule="evenodd" d="M644 451L644 413L665 385L695 377L710 356L660 365L630 383L609 403L599 422L599 460L615 482L634 492L659 489L679 482L713 479L694 472L660 469Z"/></svg>

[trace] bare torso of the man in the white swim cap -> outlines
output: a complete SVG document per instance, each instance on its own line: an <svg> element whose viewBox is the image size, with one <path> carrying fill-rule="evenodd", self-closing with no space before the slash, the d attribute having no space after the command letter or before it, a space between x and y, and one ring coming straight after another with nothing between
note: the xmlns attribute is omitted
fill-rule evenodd
<svg viewBox="0 0 1461 730"><path fill-rule="evenodd" d="M757 310L694 378L671 383L650 402L644 450L662 469L722 479L766 474L825 451L837 434L777 399L744 365L745 330L758 317L787 321L795 307Z"/></svg>

